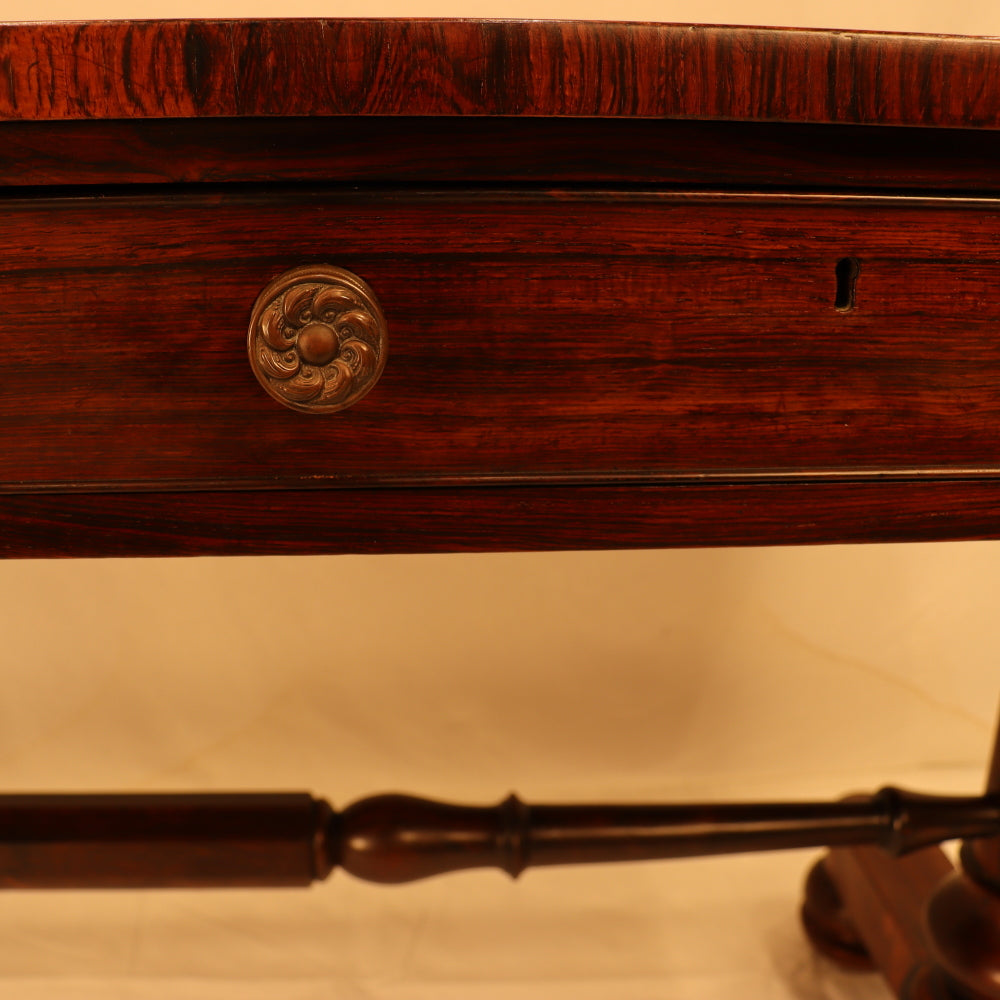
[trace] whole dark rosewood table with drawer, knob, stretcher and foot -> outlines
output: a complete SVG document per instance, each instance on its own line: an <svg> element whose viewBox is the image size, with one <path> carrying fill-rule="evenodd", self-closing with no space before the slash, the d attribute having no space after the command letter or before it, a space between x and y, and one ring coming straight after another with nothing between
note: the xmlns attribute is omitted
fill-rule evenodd
<svg viewBox="0 0 1000 1000"><path fill-rule="evenodd" d="M998 74L851 32L0 25L0 551L1000 537ZM0 883L829 845L819 948L995 998L998 796L2 796Z"/></svg>

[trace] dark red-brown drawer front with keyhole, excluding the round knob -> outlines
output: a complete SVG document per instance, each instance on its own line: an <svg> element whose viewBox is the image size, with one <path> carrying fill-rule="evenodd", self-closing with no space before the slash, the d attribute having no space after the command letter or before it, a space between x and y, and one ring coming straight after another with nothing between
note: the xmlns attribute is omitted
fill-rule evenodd
<svg viewBox="0 0 1000 1000"><path fill-rule="evenodd" d="M255 299L346 268L378 384L302 413ZM1000 203L588 192L8 198L0 490L1000 472Z"/></svg>

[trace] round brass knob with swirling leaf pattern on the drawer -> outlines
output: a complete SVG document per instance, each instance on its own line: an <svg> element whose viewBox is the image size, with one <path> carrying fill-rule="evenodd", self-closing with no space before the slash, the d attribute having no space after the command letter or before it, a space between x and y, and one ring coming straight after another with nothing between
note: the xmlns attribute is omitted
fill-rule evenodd
<svg viewBox="0 0 1000 1000"><path fill-rule="evenodd" d="M314 264L275 278L257 297L247 349L257 381L305 413L353 406L382 374L385 316L356 274Z"/></svg>

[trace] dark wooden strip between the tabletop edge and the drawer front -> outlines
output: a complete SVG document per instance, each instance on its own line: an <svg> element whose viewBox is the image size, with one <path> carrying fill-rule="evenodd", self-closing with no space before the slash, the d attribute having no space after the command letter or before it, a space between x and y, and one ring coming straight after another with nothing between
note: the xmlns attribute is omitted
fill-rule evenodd
<svg viewBox="0 0 1000 1000"><path fill-rule="evenodd" d="M0 186L643 184L998 191L1000 132L637 118L6 122ZM734 155L736 151L736 155Z"/></svg>

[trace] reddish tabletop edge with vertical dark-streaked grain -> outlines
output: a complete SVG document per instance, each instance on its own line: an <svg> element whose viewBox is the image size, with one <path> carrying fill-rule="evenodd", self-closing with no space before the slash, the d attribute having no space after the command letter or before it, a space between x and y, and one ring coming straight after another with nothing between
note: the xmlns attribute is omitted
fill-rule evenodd
<svg viewBox="0 0 1000 1000"><path fill-rule="evenodd" d="M991 39L568 21L0 25L0 118L528 115L997 128Z"/></svg>

